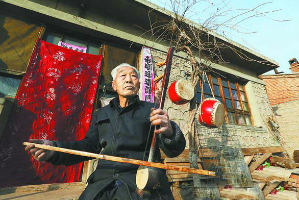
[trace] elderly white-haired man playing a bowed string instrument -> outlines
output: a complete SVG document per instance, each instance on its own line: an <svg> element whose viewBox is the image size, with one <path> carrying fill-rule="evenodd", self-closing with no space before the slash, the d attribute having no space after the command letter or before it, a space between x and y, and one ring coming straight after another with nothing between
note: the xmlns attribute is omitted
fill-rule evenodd
<svg viewBox="0 0 299 200"><path fill-rule="evenodd" d="M118 96L109 105L96 111L89 131L81 141L49 141L31 139L31 142L53 145L79 151L100 153L123 158L147 159L150 145L145 149L148 134L159 134L158 145L168 157L180 155L185 148L185 138L178 125L170 121L154 104L139 100L139 71L126 63L111 72L112 87ZM160 129L150 132L151 123ZM154 133L153 133L154 132ZM149 141L149 143L151 140ZM45 151L33 145L26 147L37 161L54 165L72 165L90 158L71 154ZM155 162L161 162L159 148L155 151ZM88 178L88 186L80 199L144 199L136 192L136 171L138 166L127 163L99 160L96 170ZM172 199L164 169L157 169L161 187L151 191L151 199Z"/></svg>

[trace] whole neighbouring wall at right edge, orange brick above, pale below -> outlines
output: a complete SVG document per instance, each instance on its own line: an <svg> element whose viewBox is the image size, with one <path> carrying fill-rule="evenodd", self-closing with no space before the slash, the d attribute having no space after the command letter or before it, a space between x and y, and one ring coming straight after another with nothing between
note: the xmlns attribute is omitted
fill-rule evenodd
<svg viewBox="0 0 299 200"><path fill-rule="evenodd" d="M290 154L299 148L299 73L265 75L269 102Z"/></svg>

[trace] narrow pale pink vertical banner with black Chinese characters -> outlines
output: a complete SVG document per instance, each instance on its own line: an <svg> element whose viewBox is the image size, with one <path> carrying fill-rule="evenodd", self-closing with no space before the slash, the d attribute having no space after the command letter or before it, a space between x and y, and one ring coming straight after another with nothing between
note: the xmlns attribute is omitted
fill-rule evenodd
<svg viewBox="0 0 299 200"><path fill-rule="evenodd" d="M154 91L153 81L154 81L154 69L152 62L151 49L143 47L142 55L142 97L141 100L145 102L154 103Z"/></svg>

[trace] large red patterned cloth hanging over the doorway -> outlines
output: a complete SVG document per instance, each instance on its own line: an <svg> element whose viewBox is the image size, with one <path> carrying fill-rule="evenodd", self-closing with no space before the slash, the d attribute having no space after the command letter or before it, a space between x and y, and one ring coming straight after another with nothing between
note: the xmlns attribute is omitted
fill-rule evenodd
<svg viewBox="0 0 299 200"><path fill-rule="evenodd" d="M89 128L102 56L38 40L0 145L0 186L80 181L82 163L36 162L21 142L80 140Z"/></svg>

